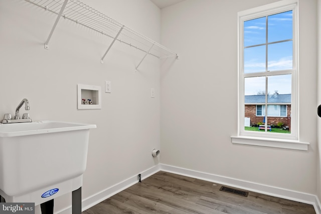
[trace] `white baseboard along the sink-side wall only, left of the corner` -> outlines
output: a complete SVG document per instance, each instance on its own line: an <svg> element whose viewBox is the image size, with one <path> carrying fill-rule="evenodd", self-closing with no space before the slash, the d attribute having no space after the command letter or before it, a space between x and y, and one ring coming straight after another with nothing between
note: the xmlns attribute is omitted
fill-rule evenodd
<svg viewBox="0 0 321 214"><path fill-rule="evenodd" d="M160 165L153 166L149 169L146 169L145 171L141 172L141 178L142 180L149 177L150 175L153 175L154 173L158 172L160 170ZM96 205L97 203L100 203L101 201L111 197L114 194L117 194L118 192L128 188L129 186L134 185L138 182L137 175L131 176L119 183L116 183L113 186L110 186L109 188L106 188L100 192L97 192L94 195L91 195L87 198L82 199L82 211ZM65 209L59 210L55 212L56 214L70 214L72 213L72 207L71 205L69 207L66 207Z"/></svg>

